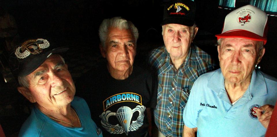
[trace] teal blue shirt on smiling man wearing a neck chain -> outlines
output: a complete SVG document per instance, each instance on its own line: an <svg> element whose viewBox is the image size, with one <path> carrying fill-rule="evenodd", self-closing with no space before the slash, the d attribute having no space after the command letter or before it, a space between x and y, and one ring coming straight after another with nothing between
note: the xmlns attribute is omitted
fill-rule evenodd
<svg viewBox="0 0 277 137"><path fill-rule="evenodd" d="M31 115L22 125L18 136L58 137L58 136L92 136L102 137L101 130L91 119L87 103L80 97L74 97L71 106L76 110L82 127L65 127L44 115L34 107ZM99 134L99 135L98 135Z"/></svg>

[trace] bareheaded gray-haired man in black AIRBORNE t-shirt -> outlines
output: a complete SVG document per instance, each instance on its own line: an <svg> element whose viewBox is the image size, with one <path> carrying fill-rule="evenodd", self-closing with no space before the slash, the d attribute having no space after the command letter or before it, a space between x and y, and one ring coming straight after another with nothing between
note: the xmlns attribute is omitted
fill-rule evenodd
<svg viewBox="0 0 277 137"><path fill-rule="evenodd" d="M103 136L151 136L149 108L156 107L157 84L148 70L134 65L138 30L132 22L114 17L103 20L99 36L106 62L76 84L84 91L92 118Z"/></svg>

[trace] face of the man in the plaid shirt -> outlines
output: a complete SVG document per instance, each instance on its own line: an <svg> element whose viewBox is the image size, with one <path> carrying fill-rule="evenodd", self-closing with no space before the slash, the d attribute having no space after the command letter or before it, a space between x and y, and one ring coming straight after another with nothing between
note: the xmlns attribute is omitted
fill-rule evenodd
<svg viewBox="0 0 277 137"><path fill-rule="evenodd" d="M171 58L186 57L190 47L190 27L179 24L163 26L163 39L167 52Z"/></svg>

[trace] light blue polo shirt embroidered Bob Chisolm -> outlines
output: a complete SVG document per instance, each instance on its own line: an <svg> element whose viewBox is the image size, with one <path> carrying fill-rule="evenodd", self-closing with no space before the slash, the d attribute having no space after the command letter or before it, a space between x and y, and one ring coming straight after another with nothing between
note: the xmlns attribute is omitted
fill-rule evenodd
<svg viewBox="0 0 277 137"><path fill-rule="evenodd" d="M264 136L255 108L274 105L277 79L254 70L244 95L232 105L224 86L221 69L201 75L192 86L184 109L184 123L197 127L197 136Z"/></svg>

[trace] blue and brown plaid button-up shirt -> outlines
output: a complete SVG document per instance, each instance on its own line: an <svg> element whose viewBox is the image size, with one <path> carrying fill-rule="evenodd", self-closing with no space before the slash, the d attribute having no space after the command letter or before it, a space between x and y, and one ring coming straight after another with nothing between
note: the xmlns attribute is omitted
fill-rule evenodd
<svg viewBox="0 0 277 137"><path fill-rule="evenodd" d="M184 63L175 69L165 46L150 52L149 65L158 75L155 123L165 136L182 136L185 108L193 82L214 69L214 60L206 52L191 44Z"/></svg>

